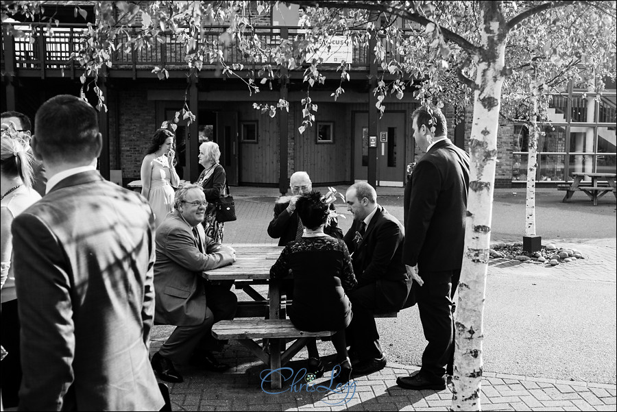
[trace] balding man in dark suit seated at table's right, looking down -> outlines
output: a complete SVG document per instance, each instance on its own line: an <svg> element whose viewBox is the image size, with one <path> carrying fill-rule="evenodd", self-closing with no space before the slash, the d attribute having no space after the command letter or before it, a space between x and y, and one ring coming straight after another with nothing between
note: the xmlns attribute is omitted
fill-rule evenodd
<svg viewBox="0 0 617 412"><path fill-rule="evenodd" d="M411 290L411 279L402 264L404 228L377 204L375 189L365 182L352 184L346 200L354 221L344 240L358 280L349 294L354 316L348 343L358 361L354 374L362 375L386 365L374 313L399 311Z"/></svg>

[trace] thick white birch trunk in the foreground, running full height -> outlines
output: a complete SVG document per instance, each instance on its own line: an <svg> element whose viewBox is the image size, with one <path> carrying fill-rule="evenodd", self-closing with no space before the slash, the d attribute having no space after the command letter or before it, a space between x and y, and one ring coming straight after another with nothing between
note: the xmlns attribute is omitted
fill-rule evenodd
<svg viewBox="0 0 617 412"><path fill-rule="evenodd" d="M481 51L470 139L470 187L465 250L459 282L452 410L479 411L483 312L489 261L500 97L505 80L506 23L503 2L481 1Z"/></svg>

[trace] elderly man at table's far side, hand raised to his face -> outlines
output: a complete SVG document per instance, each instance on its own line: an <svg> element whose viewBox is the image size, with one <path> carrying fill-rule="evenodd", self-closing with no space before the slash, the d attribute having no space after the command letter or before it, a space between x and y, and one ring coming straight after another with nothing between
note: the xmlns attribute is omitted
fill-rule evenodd
<svg viewBox="0 0 617 412"><path fill-rule="evenodd" d="M269 236L272 239L279 239L279 246L285 246L302 237L304 229L298 219L298 213L295 213L295 202L300 196L313 190L311 178L305 171L293 173L289 179L289 186L291 186L291 199L289 202L274 204L274 219L268 225ZM335 206L330 204L330 209L335 210ZM324 228L324 232L336 239L343 239L343 231L336 219L331 220L330 225Z"/></svg>

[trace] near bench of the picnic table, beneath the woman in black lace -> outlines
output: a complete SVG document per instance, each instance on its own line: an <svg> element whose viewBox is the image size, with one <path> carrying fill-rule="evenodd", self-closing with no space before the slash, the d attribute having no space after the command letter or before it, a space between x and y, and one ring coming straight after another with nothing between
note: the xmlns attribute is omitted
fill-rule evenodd
<svg viewBox="0 0 617 412"><path fill-rule="evenodd" d="M289 319L234 319L223 320L214 324L212 335L216 339L235 339L255 354L263 363L276 370L285 365L306 345L306 338L327 337L335 332L306 332L295 328ZM281 339L296 339L281 353ZM261 348L253 339L269 339L269 351ZM280 374L271 374L272 389L282 386Z"/></svg>

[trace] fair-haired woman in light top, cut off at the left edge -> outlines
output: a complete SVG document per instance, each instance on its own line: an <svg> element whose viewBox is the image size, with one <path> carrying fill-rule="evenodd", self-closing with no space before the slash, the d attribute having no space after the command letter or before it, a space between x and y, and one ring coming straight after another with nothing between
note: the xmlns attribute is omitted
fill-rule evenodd
<svg viewBox="0 0 617 412"><path fill-rule="evenodd" d="M16 407L21 384L19 363L19 317L15 274L10 268L12 254L11 223L13 219L40 199L32 189L32 158L21 142L3 130L0 142L0 258L2 337L0 342L8 354L2 361L2 401L4 407Z"/></svg>

